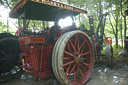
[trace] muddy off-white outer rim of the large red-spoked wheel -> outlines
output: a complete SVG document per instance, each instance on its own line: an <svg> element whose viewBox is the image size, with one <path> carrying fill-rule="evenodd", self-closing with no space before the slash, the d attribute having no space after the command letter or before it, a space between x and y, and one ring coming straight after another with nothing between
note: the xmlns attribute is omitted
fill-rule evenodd
<svg viewBox="0 0 128 85"><path fill-rule="evenodd" d="M89 68L88 68L88 71L86 72L85 76L81 79L80 82L72 82L69 78L67 78L67 76L65 76L65 67L63 66L64 63L63 61L65 62L65 60L63 60L63 55L65 55L65 49L66 49L66 45L69 41L70 38L72 38L72 36L74 36L75 34L79 34L80 36L84 36L86 37L85 39L87 39L87 42L86 44L90 46L90 49L89 49L89 55L90 55L90 61L89 61ZM64 42L61 42L61 41L64 41ZM65 45L63 45L65 44ZM53 51L54 52L54 55L52 56L52 58L54 57L54 62L57 62L57 64L54 64L54 65L57 65L56 68L54 68L54 73L55 73L55 76L57 77L57 79L61 82L61 84L84 84L90 77L91 75L91 72L92 72L92 69L93 69L93 49L92 49L92 45L91 45L91 42L89 40L89 38L87 37L87 35L82 32L82 31L72 31L72 32L69 32L67 33L65 36L61 37L61 39L59 39L57 45L55 45L59 52L56 52L56 51ZM61 50L59 50L61 48ZM76 52L77 53L77 52ZM88 54L88 53L85 53L85 54ZM58 56L58 57L56 57ZM86 64L86 63L85 63ZM87 65L87 64L86 64ZM78 66L78 65L76 65ZM75 68L75 66L74 66ZM74 72L74 71L73 71ZM70 72L71 74L72 72Z"/></svg>

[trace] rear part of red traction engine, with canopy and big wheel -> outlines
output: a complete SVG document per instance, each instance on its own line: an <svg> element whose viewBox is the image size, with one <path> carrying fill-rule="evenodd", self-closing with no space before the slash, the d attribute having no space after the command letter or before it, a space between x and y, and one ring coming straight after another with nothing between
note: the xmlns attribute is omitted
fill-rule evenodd
<svg viewBox="0 0 128 85"><path fill-rule="evenodd" d="M93 46L84 31L77 30L74 21L61 29L58 20L87 11L48 0L20 0L10 12L11 18L23 20L19 45L23 53L23 70L36 78L47 78L54 72L63 85L81 85L93 70ZM29 31L28 20L54 21L55 26L38 33Z"/></svg>

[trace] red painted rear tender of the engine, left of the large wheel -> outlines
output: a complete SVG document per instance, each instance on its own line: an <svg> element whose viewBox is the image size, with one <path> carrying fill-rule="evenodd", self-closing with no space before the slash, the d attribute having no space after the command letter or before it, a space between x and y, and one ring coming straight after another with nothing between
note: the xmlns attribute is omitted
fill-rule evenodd
<svg viewBox="0 0 128 85"><path fill-rule="evenodd" d="M20 49L24 51L24 53L20 54L23 70L36 78L49 77L52 73L51 57L53 45L43 45L45 38L39 36L35 38L34 35L20 37L19 42Z"/></svg>

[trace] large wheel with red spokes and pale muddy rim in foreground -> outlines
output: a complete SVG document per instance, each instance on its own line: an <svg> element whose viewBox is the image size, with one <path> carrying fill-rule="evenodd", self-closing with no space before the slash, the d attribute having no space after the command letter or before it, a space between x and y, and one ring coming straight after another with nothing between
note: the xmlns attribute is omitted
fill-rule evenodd
<svg viewBox="0 0 128 85"><path fill-rule="evenodd" d="M93 48L88 36L78 30L67 32L54 46L54 74L63 85L85 84L93 70L93 58Z"/></svg>

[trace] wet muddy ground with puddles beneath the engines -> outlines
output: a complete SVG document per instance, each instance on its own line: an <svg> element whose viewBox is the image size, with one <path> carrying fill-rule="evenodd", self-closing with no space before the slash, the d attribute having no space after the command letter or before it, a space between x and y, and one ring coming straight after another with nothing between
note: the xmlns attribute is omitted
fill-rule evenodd
<svg viewBox="0 0 128 85"><path fill-rule="evenodd" d="M0 81L0 85L61 85L55 77L36 81L24 73L19 78L5 82L0 79ZM106 67L104 62L96 63L85 85L128 85L128 58L116 59L112 67Z"/></svg>

